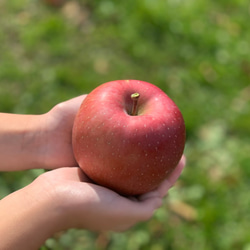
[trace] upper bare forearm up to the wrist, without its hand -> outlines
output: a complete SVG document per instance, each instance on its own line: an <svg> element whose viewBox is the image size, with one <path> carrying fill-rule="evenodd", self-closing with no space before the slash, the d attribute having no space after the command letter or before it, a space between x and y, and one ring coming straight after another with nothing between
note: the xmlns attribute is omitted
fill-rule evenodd
<svg viewBox="0 0 250 250"><path fill-rule="evenodd" d="M0 171L37 168L42 164L42 117L0 113Z"/></svg>

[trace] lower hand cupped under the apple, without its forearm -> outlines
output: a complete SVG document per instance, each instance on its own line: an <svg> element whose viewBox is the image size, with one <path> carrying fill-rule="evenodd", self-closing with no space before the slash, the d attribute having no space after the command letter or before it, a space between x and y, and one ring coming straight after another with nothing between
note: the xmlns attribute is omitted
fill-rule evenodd
<svg viewBox="0 0 250 250"><path fill-rule="evenodd" d="M123 231L151 218L184 166L183 156L176 169L156 190L138 197L124 197L96 185L77 167L47 172L38 181L45 193L54 194L53 203L61 211L61 229Z"/></svg>

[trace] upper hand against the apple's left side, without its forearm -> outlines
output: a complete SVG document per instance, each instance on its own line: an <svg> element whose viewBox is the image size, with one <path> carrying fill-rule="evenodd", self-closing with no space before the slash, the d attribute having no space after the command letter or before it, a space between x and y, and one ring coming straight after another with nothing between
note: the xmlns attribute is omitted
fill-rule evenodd
<svg viewBox="0 0 250 250"><path fill-rule="evenodd" d="M76 166L71 136L75 115L87 95L57 104L43 115L44 147L41 165L46 169Z"/></svg>

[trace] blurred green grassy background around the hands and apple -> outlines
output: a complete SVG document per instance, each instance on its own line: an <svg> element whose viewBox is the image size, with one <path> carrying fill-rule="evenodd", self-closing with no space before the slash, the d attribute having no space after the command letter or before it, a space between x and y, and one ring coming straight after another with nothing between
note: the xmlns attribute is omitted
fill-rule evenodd
<svg viewBox="0 0 250 250"><path fill-rule="evenodd" d="M186 122L186 169L152 220L60 232L42 250L250 250L249 20L248 0L0 0L1 112L139 79ZM0 173L0 197L42 172Z"/></svg>

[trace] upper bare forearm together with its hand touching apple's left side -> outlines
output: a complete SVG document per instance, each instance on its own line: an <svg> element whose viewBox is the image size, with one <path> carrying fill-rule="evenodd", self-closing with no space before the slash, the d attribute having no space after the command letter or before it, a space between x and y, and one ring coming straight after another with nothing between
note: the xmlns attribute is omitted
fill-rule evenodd
<svg viewBox="0 0 250 250"><path fill-rule="evenodd" d="M71 132L86 95L42 115L0 113L0 171L76 166Z"/></svg>

